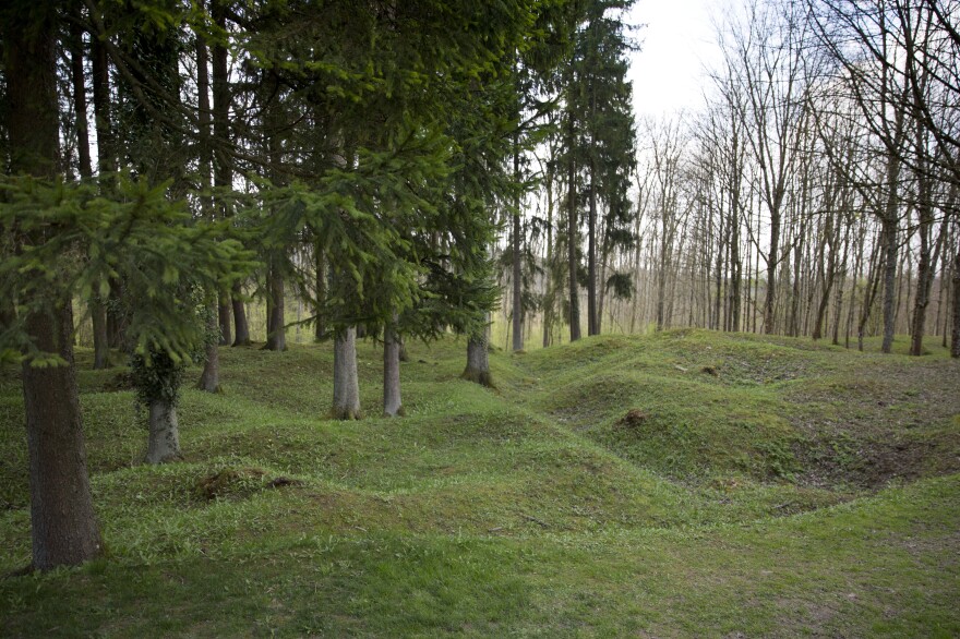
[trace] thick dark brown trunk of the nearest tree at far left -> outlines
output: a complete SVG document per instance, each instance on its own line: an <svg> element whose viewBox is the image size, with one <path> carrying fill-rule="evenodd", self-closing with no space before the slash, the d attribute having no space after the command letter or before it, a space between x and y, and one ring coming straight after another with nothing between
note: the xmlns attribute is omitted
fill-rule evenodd
<svg viewBox="0 0 960 639"><path fill-rule="evenodd" d="M2 38L12 172L51 178L59 169L56 3L17 3L4 13ZM56 232L56 230L52 230ZM45 238L28 238L26 242ZM43 275L38 276L43 277ZM39 301L39 300L36 300ZM64 364L23 363L31 486L33 566L75 565L100 553L100 533L86 471L73 363L70 299L43 300L25 317L31 340Z"/></svg>

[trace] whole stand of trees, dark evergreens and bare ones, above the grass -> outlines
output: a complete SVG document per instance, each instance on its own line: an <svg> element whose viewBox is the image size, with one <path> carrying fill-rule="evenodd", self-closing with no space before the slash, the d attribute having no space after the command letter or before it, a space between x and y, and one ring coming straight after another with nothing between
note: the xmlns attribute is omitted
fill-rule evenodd
<svg viewBox="0 0 960 639"><path fill-rule="evenodd" d="M588 335L909 333L917 355L956 335L952 1L746 3L704 108L639 134L629 1L8 4L0 346L24 365L38 567L98 544L77 335L98 367L113 348L166 371L144 397L167 426L197 352L218 386L204 305L225 345L333 337L341 419L358 333L384 342L387 415L407 338L466 335L465 377L491 384L494 264L514 350L538 314L544 345L578 339L581 301Z"/></svg>

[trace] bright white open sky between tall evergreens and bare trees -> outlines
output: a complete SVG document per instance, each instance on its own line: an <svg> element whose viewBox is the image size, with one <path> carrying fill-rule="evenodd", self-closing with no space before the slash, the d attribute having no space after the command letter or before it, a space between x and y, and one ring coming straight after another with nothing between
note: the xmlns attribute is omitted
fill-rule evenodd
<svg viewBox="0 0 960 639"><path fill-rule="evenodd" d="M703 104L704 63L717 57L713 22L730 0L637 0L627 22L644 24L633 55L637 120Z"/></svg>

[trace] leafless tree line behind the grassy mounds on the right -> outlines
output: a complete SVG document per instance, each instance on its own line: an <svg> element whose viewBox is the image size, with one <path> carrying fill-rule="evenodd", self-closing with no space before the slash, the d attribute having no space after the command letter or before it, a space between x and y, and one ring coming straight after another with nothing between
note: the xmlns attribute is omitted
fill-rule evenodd
<svg viewBox="0 0 960 639"><path fill-rule="evenodd" d="M540 340L535 325L544 346L561 339L559 321L576 339L586 289L610 330L698 326L861 349L878 335L884 352L909 334L917 355L934 334L960 355L958 15L952 0L743 2L719 25L703 108L640 123L636 170L617 165L623 204L589 183L572 193L557 132L536 153L526 302L504 306L514 348ZM607 212L588 231L601 238L596 266L574 256L562 268L557 248L575 238L579 251L593 193Z"/></svg>

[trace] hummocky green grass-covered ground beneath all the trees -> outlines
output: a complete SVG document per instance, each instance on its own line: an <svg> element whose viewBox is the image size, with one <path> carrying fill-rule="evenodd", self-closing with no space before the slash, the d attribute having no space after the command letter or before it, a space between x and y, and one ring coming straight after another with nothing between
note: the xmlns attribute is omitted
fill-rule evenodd
<svg viewBox="0 0 960 639"><path fill-rule="evenodd" d="M411 342L386 420L367 343L358 422L326 418L329 345L224 348L160 467L124 370L81 351L107 555L43 575L15 575L7 367L0 636L957 637L960 363L928 348L603 336L494 352L489 390L463 340Z"/></svg>

